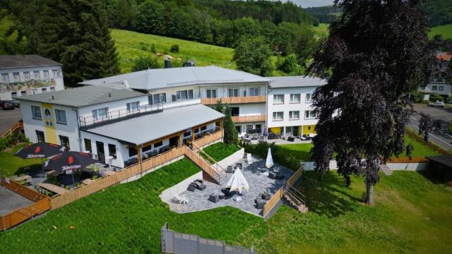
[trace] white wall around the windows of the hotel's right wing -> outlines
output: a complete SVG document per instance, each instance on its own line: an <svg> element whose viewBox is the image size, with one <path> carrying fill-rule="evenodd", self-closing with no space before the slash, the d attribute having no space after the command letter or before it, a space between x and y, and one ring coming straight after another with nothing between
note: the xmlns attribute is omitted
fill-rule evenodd
<svg viewBox="0 0 452 254"><path fill-rule="evenodd" d="M312 94L316 90L316 87L288 87L288 88L272 88L268 92L267 105L268 105L268 128L283 127L283 126L305 126L315 125L317 119L305 119L304 111L312 110L311 102L306 102L306 94ZM301 94L299 103L290 103L291 94ZM273 95L284 95L283 104L274 104ZM283 111L283 121L274 121L273 112ZM289 111L299 111L299 119L289 119Z"/></svg>

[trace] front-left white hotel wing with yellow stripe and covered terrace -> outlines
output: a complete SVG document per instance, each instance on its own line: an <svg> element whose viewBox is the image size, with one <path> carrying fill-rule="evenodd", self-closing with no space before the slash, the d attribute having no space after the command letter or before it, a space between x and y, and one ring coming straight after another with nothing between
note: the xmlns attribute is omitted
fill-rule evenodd
<svg viewBox="0 0 452 254"><path fill-rule="evenodd" d="M85 86L23 96L20 102L30 142L91 152L114 167L213 133L223 117L199 99L148 104L148 95L117 87Z"/></svg>

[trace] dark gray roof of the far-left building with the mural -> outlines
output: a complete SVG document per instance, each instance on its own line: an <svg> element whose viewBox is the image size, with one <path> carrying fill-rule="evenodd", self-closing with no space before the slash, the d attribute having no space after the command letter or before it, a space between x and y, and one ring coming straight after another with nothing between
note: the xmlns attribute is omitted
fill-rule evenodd
<svg viewBox="0 0 452 254"><path fill-rule="evenodd" d="M61 66L61 63L38 55L0 56L0 68L23 68L37 66Z"/></svg>

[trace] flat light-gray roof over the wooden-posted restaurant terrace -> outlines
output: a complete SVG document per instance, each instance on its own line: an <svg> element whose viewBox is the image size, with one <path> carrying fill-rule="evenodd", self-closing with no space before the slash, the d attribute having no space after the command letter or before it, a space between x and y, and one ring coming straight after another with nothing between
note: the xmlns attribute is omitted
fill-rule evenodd
<svg viewBox="0 0 452 254"><path fill-rule="evenodd" d="M152 140L178 133L202 123L222 118L220 112L203 104L164 109L155 114L139 116L97 128L89 133L114 138L124 143L142 145Z"/></svg>

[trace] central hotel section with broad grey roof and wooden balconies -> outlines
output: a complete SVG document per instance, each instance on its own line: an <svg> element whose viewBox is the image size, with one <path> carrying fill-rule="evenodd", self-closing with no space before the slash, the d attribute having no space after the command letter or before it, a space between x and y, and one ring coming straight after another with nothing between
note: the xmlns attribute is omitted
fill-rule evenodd
<svg viewBox="0 0 452 254"><path fill-rule="evenodd" d="M148 94L152 104L230 104L238 133L261 133L266 125L269 78L216 66L160 68L85 80L81 85L119 85Z"/></svg>

